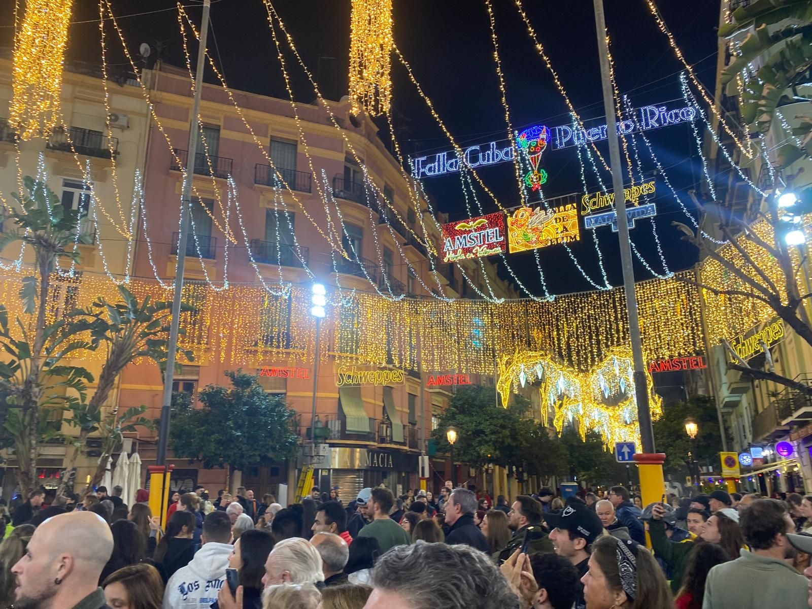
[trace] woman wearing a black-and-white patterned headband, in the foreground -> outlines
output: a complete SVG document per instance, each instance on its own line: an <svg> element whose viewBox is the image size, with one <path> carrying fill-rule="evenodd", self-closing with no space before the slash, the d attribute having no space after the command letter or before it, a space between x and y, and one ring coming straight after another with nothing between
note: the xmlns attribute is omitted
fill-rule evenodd
<svg viewBox="0 0 812 609"><path fill-rule="evenodd" d="M645 546L606 536L592 546L581 578L586 609L672 609L662 569Z"/></svg>

